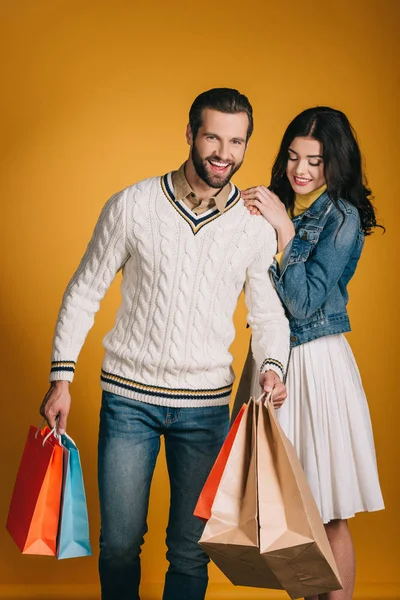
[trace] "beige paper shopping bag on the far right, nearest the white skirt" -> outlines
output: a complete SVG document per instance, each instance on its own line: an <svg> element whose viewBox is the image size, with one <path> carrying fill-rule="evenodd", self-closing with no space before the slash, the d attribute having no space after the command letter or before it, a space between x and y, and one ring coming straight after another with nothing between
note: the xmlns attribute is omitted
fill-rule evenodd
<svg viewBox="0 0 400 600"><path fill-rule="evenodd" d="M292 598L340 589L318 508L272 403L262 403L258 417L260 554Z"/></svg>

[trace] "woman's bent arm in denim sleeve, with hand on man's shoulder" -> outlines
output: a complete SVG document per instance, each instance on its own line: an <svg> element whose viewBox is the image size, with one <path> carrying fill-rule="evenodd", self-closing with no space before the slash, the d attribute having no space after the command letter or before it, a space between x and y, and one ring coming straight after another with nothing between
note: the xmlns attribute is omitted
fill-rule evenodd
<svg viewBox="0 0 400 600"><path fill-rule="evenodd" d="M321 232L296 234L284 204L265 186L249 188L242 197L250 212L275 228L279 255L271 273L282 301L293 317L311 317L341 278L362 236L358 213L335 211Z"/></svg>

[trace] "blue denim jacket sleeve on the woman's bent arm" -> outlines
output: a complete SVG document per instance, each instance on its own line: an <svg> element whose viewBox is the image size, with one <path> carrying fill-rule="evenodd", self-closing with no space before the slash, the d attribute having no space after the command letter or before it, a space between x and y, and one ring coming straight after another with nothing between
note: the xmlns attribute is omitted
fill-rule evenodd
<svg viewBox="0 0 400 600"><path fill-rule="evenodd" d="M299 228L280 267L276 261L271 267L276 289L294 318L308 319L322 306L344 273L359 236L355 211L344 217L335 211L324 227Z"/></svg>

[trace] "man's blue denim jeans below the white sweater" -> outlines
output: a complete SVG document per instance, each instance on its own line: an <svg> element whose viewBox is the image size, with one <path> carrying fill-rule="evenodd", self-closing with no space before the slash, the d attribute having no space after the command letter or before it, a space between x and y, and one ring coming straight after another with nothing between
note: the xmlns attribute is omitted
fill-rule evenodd
<svg viewBox="0 0 400 600"><path fill-rule="evenodd" d="M103 392L99 432L102 600L139 600L150 484L165 437L171 485L163 600L203 600L209 559L193 516L225 440L228 406L169 408Z"/></svg>

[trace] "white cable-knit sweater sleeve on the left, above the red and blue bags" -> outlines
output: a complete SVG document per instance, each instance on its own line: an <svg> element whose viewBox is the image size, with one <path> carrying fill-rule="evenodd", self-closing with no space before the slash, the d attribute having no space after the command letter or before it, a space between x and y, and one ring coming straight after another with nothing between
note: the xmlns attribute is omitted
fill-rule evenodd
<svg viewBox="0 0 400 600"><path fill-rule="evenodd" d="M100 301L128 258L126 192L104 206L92 239L64 293L53 339L50 381L72 381Z"/></svg>

